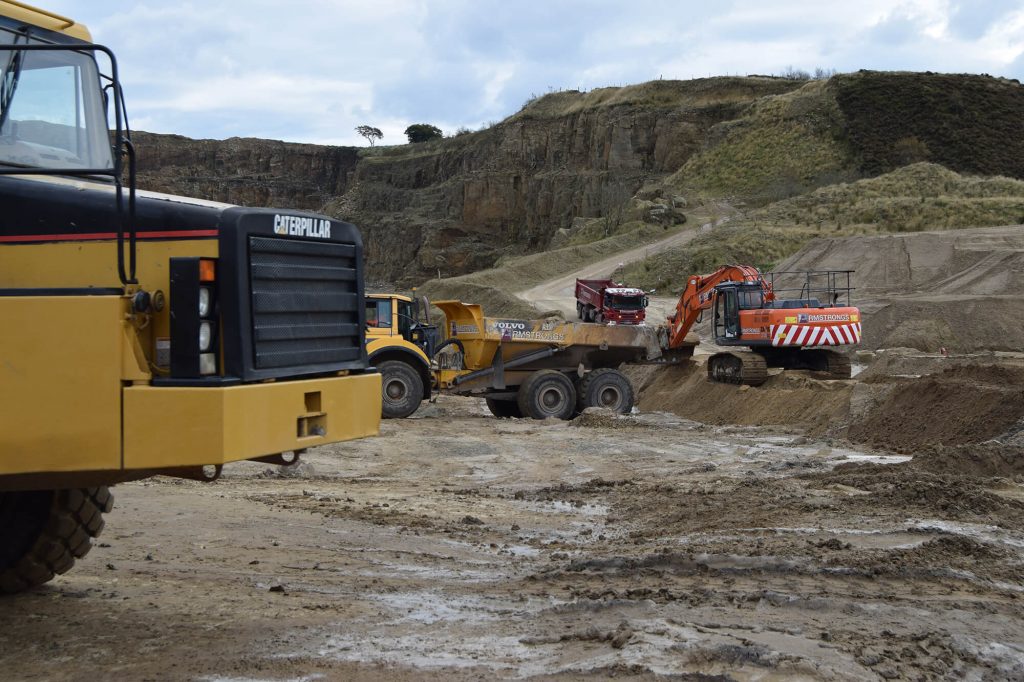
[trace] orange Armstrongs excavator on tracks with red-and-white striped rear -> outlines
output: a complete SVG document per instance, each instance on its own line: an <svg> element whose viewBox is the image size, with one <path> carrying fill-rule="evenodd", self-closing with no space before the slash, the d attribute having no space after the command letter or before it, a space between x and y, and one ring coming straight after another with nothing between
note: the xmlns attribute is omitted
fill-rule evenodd
<svg viewBox="0 0 1024 682"><path fill-rule="evenodd" d="M850 305L851 274L764 275L750 265L723 265L691 275L669 317L669 350L686 349L686 334L712 309L715 343L736 347L708 359L712 381L758 386L768 379L769 367L849 379L850 358L829 348L860 343L860 310Z"/></svg>

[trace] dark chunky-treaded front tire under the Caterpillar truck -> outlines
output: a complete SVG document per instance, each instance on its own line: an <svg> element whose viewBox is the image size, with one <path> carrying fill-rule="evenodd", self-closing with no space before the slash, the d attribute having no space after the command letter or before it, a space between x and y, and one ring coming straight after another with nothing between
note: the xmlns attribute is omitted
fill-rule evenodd
<svg viewBox="0 0 1024 682"><path fill-rule="evenodd" d="M67 572L92 549L113 506L106 487L0 493L0 593Z"/></svg>

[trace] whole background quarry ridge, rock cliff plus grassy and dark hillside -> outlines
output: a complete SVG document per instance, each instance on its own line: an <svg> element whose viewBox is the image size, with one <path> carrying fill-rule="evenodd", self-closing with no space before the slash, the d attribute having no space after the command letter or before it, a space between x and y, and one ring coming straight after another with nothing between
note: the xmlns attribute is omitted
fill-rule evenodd
<svg viewBox="0 0 1024 682"><path fill-rule="evenodd" d="M140 186L350 220L372 280L416 284L556 237L672 218L690 191L765 203L929 159L1024 177L1024 141L1010 134L1022 115L1015 81L859 72L551 93L485 130L419 144L136 142Z"/></svg>

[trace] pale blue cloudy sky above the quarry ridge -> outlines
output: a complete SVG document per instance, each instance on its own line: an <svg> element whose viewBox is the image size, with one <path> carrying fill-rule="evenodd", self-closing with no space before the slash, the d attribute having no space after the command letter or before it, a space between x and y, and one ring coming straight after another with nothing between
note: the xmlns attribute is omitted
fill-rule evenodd
<svg viewBox="0 0 1024 682"><path fill-rule="evenodd" d="M787 68L1024 80L1024 0L34 0L118 55L132 127L404 142L532 94Z"/></svg>

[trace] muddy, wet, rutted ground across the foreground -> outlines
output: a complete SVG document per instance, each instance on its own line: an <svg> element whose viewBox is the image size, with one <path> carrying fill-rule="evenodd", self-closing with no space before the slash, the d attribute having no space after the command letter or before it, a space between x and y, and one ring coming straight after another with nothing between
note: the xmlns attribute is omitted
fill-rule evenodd
<svg viewBox="0 0 1024 682"><path fill-rule="evenodd" d="M442 397L287 474L119 486L102 545L3 600L0 670L1022 679L1021 486L907 459Z"/></svg>

